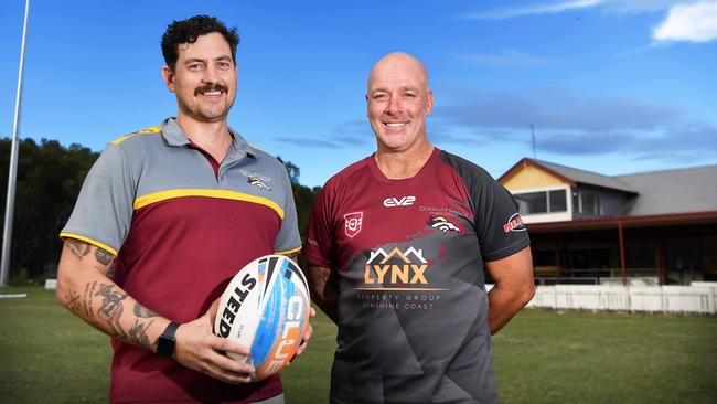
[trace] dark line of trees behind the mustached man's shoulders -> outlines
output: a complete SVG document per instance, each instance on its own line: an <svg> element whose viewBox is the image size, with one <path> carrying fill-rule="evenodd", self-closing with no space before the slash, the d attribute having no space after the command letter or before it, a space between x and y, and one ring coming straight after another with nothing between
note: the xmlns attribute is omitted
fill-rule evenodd
<svg viewBox="0 0 717 404"><path fill-rule="evenodd" d="M3 217L10 148L10 139L0 139L0 205ZM56 140L47 139L39 143L33 139L19 141L11 283L23 278L55 277L62 248L60 231L69 219L85 177L98 157L98 152L77 143L64 147ZM300 184L299 168L291 161L281 161L291 179L299 230L303 236L319 188Z"/></svg>

